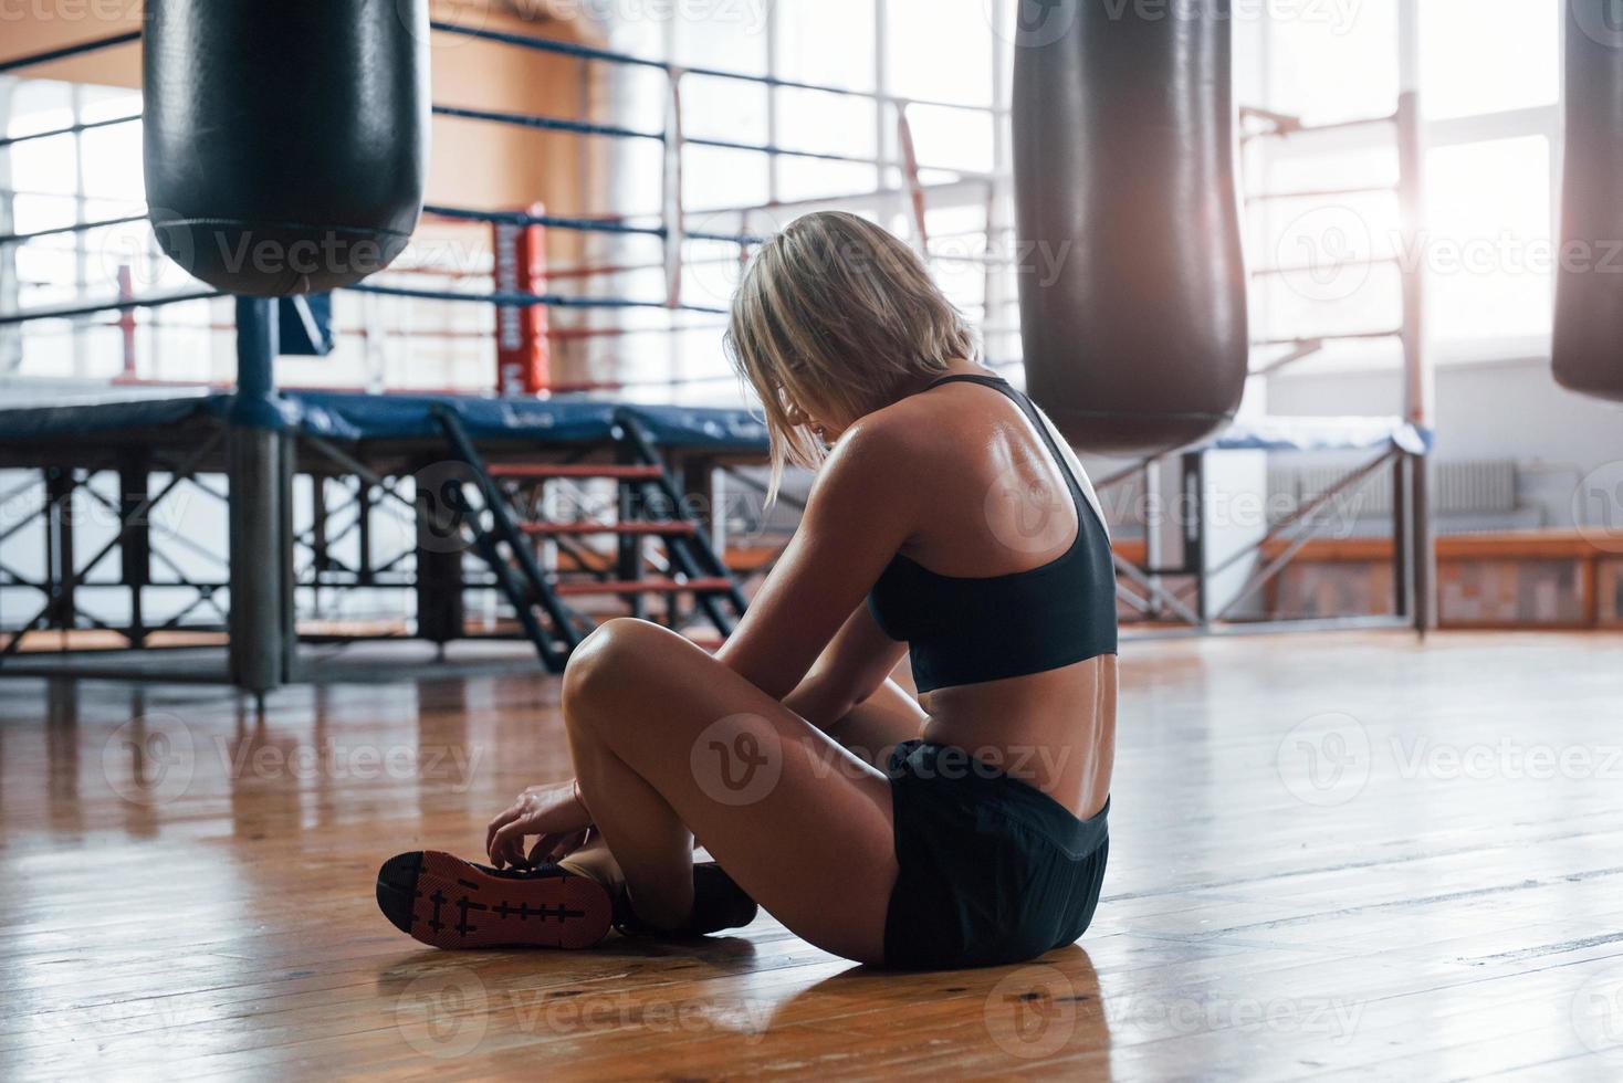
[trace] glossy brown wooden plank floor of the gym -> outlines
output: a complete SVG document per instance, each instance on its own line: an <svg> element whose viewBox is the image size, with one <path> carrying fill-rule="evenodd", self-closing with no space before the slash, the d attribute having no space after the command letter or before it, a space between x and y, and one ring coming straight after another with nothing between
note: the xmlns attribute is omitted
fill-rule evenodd
<svg viewBox="0 0 1623 1083"><path fill-rule="evenodd" d="M1623 1078L1623 637L1130 644L1094 927L925 976L398 934L378 863L565 777L557 696L0 681L0 1078Z"/></svg>

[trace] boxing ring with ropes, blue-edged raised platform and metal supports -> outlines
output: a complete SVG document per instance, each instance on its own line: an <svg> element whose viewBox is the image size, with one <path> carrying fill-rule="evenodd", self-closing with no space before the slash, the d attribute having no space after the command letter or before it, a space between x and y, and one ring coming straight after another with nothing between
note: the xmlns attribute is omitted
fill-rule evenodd
<svg viewBox="0 0 1623 1083"><path fill-rule="evenodd" d="M651 238L659 243L657 264L550 268L532 280L503 280L500 269L489 274L463 276L453 285L433 289L415 284L412 269L390 269L344 292L404 298L414 303L477 306L495 313L497 332L531 313L669 313L670 331L709 324L678 324L677 318L708 318L719 331L725 310L717 305L683 300L685 271L695 264L685 253L688 243L730 246L742 261L763 238L748 229L751 214L763 208L711 212L709 222L727 219L737 230L695 229L687 211L682 180L682 149L703 146L742 151L779 161L824 161L873 165L883 177L886 167L901 172L898 188L852 193L820 204L904 208L915 232L915 243L928 256L930 237L925 229L925 206L933 191L985 186L987 237L1006 225L997 220L990 199L990 178L966 170L958 180L925 183L932 167L912 152L907 109L930 104L946 109L975 109L951 102L909 102L906 99L841 86L782 79L774 75L747 75L717 68L678 66L630 54L550 41L527 34L510 34L435 23L437 34L480 39L539 54L565 55L588 63L636 66L662 71L669 79L669 110L664 130L589 123L563 117L523 115L467 105L433 105L438 117L469 123L506 125L529 130L568 133L586 139L622 139L652 143L664 148L662 208L657 216L581 217L547 214L542 209L480 209L433 204L424 208L425 219L458 222L492 230L502 243L527 238L544 243L537 230L563 230L602 238ZM0 63L0 73L65 57L114 49L140 41L140 34L118 34L81 45ZM896 120L896 146L901 156L839 154L782 146L776 138L766 143L685 136L682 125L682 79L703 76L768 88L795 89L873 102L889 109ZM1412 102L1406 105L1412 109ZM993 107L997 112L997 105ZM133 123L138 115L93 122L93 126ZM50 131L0 139L0 151L23 141L65 135L91 125L73 125ZM774 170L776 173L776 170ZM883 183L883 182L881 182ZM795 203L773 203L768 212L792 212ZM34 232L0 235L0 248L26 245L44 237L89 233L120 224L138 224L144 214L115 216L96 222L52 227ZM953 259L953 256L941 256ZM1016 329L1000 323L1001 313L1016 302L993 289L997 258L977 258L985 264L987 292L982 332L1010 336ZM975 259L972 259L975 263ZM664 295L617 297L592 292L589 284L599 276L628 269L661 271ZM489 279L489 287L484 284ZM575 292L557 292L557 282L579 282ZM162 293L140 293L128 285L118 297L50 308L0 313L0 329L36 321L84 321L110 318L128 327L133 313L170 305L226 297L211 289L183 289ZM1410 300L1410 298L1406 298ZM1415 298L1417 303L1417 298ZM292 302L295 319L310 321L302 300ZM18 665L23 645L34 632L101 632L107 642L97 647L187 647L224 644L229 650L230 679L255 694L282 683L300 679L300 642L354 642L373 637L420 637L443 649L445 644L477 636L523 637L536 644L540 661L560 668L573 642L602 613L583 613L571 601L576 597L601 595L620 600L635 614L652 614L644 608L651 598L664 600L664 619L674 626L706 623L725 636L730 621L742 611L740 587L748 577L725 563L725 498L717 485L730 480L743 490L756 485L747 467L766 456L766 434L758 418L745 410L633 405L597 397L625 391L615 381L565 384L552 379L545 363L549 345L568 340L615 339L661 334L659 327L558 327L545 321L529 324L521 334L529 360L519 365L510 383L503 371L500 397L458 394L359 394L329 389L281 389L273 366L279 353L279 337L286 311L273 302L237 298L235 319L216 324L235 336L235 387L213 392L161 392L122 402L0 410L0 469L23 470L24 488L42 494L36 514L6 522L0 540L28 527L42 527L47 567L42 574L26 574L0 566L0 585L37 593L41 603L19 619L6 613L0 619L0 671ZM1410 329L1393 332L1414 339L1406 357L1410 399L1406 415L1394 418L1319 418L1290 422L1272 418L1258 425L1233 426L1203 444L1177 456L1178 486L1193 498L1195 512L1185 524L1183 553L1177 563L1154 553L1117 554L1123 614L1138 618L1151 631L1245 631L1259 623L1230 621L1233 605L1211 611L1206 598L1209 579L1243 559L1243 553L1209 561L1204 535L1201 483L1206 457L1224 451L1303 451L1334 449L1370 452L1373 459L1349 477L1349 485L1391 469L1401 499L1394 501L1394 538L1402 566L1397 614L1393 619L1354 619L1337 626L1423 626L1425 514L1423 462L1430 446L1428 405L1423 392L1423 358L1419 339ZM537 345L544 344L544 345ZM1253 345L1289 345L1290 363L1307 357L1315 340L1255 342ZM539 349L539 362L536 360ZM1018 366L1018 362L988 358L993 368ZM140 379L122 381L133 391ZM675 387L682 381L656 381ZM1141 475L1147 462L1134 464L1099 483L1109 491L1130 477ZM115 478L117 493L97 486L97 478ZM589 522L570 516L547 517L540 509L558 490L579 493L588 482L602 486L599 496L607 506L592 509ZM450 486L450 488L448 488ZM469 491L477 506L450 506L451 491ZM6 493L15 499L16 493ZM1336 491L1341 491L1337 486ZM200 576L174 559L174 548L198 550L183 532L156 532L166 501L177 494L200 494L221 506L227 517L227 546L222 553L198 554L216 569ZM602 496L607 493L607 496ZM1326 499L1336 493L1326 494ZM75 499L99 507L112 517L112 537L101 538L84 556L83 532L75 530L67 509ZM435 501L440 499L437 504ZM456 498L461 499L461 498ZM792 499L786 499L792 504ZM1289 522L1269 530L1276 538L1295 529L1307 532L1316 522L1323 501L1300 509ZM578 511L578 509L575 509ZM450 527L445 522L450 512ZM396 553L373 553L372 537L378 533L380 516L396 516L404 522L412 543ZM526 514L531 520L524 520ZM472 537L463 533L464 527ZM579 543L579 535L601 532L613 538L610 551ZM448 533L450 532L450 533ZM456 543L446 540L456 535ZM360 556L346 559L336 553L339 542L360 538ZM427 542L425 542L427 540ZM1259 551L1263 542L1255 546ZM648 546L657 543L654 551ZM1284 558L1261 566L1250 577L1242 597L1279 572L1303 542L1292 542ZM117 577L96 576L117 553ZM480 563L464 561L464 554ZM654 574L646 564L652 563ZM503 571L506 566L506 571ZM771 566L771 554L753 564L751 572ZM514 571L516 569L516 571ZM1182 589L1169 589L1164 580L1183 579ZM295 621L300 600L305 610L320 613L325 595L354 590L407 592L415 601L414 627L372 627L342 621ZM86 611L84 598L118 593L127 600L130 619L110 623ZM508 601L510 613L498 621L471 627L463 595L493 592ZM230 605L221 603L229 593ZM154 613L153 598L162 595L167 605ZM1290 627L1313 623L1292 621ZM75 645L63 637L62 653Z"/></svg>

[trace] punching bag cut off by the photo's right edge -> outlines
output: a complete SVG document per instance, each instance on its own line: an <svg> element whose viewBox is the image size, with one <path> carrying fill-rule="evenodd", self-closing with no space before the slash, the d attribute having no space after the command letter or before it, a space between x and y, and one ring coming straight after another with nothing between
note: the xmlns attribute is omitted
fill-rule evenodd
<svg viewBox="0 0 1623 1083"><path fill-rule="evenodd" d="M1555 379L1623 400L1623 0L1566 3Z"/></svg>

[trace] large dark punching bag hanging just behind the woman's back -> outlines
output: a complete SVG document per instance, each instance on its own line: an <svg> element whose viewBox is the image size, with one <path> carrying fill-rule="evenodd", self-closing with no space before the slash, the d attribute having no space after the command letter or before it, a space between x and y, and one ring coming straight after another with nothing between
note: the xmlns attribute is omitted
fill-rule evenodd
<svg viewBox="0 0 1623 1083"><path fill-rule="evenodd" d="M1193 443L1250 355L1229 0L1016 0L1026 384L1079 449Z"/></svg>

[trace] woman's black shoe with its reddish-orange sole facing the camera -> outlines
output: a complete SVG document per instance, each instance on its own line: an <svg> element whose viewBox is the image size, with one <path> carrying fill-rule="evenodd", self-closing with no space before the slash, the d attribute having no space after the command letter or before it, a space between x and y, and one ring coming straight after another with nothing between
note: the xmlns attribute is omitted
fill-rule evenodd
<svg viewBox="0 0 1623 1083"><path fill-rule="evenodd" d="M378 871L378 908L437 948L588 948L613 919L609 892L588 877L557 866L495 872L437 850L390 858Z"/></svg>

